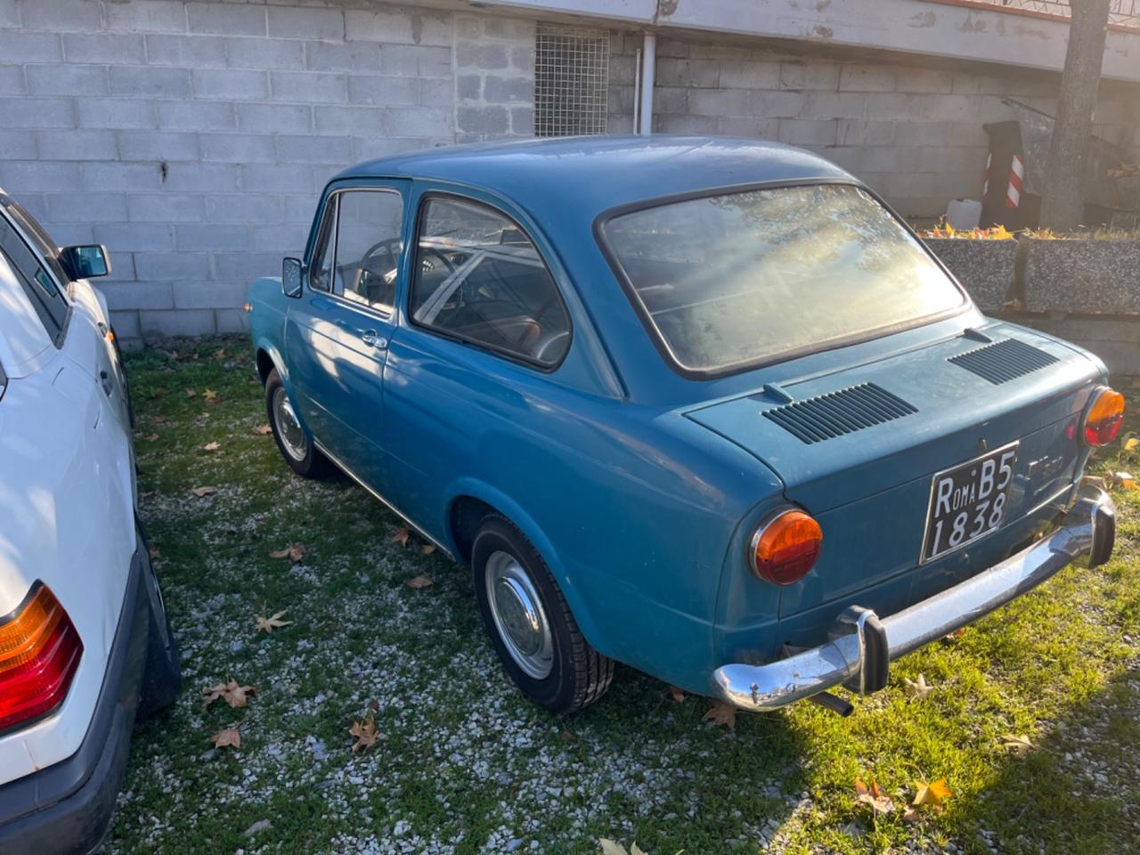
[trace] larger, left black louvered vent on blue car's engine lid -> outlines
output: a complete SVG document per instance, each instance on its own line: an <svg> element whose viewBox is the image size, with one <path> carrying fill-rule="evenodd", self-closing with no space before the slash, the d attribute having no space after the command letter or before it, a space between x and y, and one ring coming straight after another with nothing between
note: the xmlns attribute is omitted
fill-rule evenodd
<svg viewBox="0 0 1140 855"><path fill-rule="evenodd" d="M796 401L764 412L768 418L808 445L854 433L909 416L918 409L874 383Z"/></svg>

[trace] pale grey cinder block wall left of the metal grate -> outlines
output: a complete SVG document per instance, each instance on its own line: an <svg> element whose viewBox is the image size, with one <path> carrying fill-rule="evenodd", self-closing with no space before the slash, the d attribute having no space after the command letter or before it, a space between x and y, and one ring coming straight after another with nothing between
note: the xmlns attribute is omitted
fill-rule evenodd
<svg viewBox="0 0 1140 855"><path fill-rule="evenodd" d="M0 186L105 243L121 336L236 332L343 168L530 136L534 22L369 0L0 0ZM459 92L456 93L456 84Z"/></svg>

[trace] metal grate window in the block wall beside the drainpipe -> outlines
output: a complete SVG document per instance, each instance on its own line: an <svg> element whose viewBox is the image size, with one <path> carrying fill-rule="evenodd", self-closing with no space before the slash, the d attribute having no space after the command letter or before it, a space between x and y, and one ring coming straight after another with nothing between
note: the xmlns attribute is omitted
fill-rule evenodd
<svg viewBox="0 0 1140 855"><path fill-rule="evenodd" d="M535 136L605 133L610 33L539 24L535 38Z"/></svg>

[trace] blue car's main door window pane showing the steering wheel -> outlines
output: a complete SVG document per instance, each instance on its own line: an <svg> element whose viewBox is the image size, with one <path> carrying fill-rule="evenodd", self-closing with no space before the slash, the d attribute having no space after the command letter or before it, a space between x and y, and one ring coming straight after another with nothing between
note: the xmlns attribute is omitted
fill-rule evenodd
<svg viewBox="0 0 1140 855"><path fill-rule="evenodd" d="M389 190L339 194L336 214L336 294L382 311L396 300L400 266L404 198Z"/></svg>

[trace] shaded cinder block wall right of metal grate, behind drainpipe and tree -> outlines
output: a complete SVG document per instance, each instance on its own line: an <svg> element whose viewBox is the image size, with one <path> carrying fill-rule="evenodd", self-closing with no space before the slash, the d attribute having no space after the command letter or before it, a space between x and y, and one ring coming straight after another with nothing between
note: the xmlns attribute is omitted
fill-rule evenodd
<svg viewBox="0 0 1140 855"><path fill-rule="evenodd" d="M637 33L613 33L610 129L633 114ZM801 146L871 185L901 213L936 219L951 198L979 198L986 122L1012 119L1002 97L1056 112L1060 76L966 72L890 62L840 62L699 41L659 39L653 128ZM1140 148L1140 92L1106 92L1096 132ZM1140 156L1140 155L1138 155Z"/></svg>

